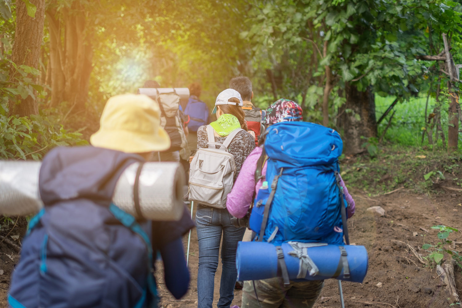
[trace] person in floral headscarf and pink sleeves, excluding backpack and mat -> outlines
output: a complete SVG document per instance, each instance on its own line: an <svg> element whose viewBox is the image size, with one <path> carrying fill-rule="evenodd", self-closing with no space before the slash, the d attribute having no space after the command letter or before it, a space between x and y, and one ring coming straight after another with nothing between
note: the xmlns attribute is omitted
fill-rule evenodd
<svg viewBox="0 0 462 308"><path fill-rule="evenodd" d="M266 110L264 123L269 127L279 122L303 121L303 110L291 100L281 98L271 104ZM226 208L234 217L242 218L249 211L254 193L258 193L263 181L263 177L255 182L255 170L257 169L258 159L262 154L262 145L256 147L250 153L242 165L241 172L234 182L231 193L228 194ZM261 169L261 175L266 175L267 163ZM340 181L343 193L348 203L348 218L352 217L355 204L352 196L348 193L343 180ZM285 308L285 307L313 307L317 297L321 293L323 280L302 280L291 281L289 286L285 286L282 278L275 277L255 281L255 290L251 281L245 281L243 286L242 307L261 307L261 308ZM255 296L258 294L258 299Z"/></svg>

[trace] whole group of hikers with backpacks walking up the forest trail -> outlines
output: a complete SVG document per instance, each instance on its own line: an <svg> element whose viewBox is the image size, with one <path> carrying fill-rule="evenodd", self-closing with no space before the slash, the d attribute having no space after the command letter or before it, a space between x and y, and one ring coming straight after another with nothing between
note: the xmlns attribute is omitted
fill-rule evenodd
<svg viewBox="0 0 462 308"><path fill-rule="evenodd" d="M148 81L145 87L159 85ZM300 139L298 133L321 126L303 122L303 110L292 100L256 108L247 77L231 79L212 115L199 98L201 86L188 88L190 97L182 102L174 96L111 97L91 146L58 147L45 156L39 177L45 210L30 220L12 275L10 307L157 307L157 253L166 287L179 299L190 280L182 236L193 228L199 243L198 308L213 306L220 243L217 306L238 308L231 306L239 285L236 251L249 224L246 240L343 244L345 219L337 210L343 206L349 218L355 204L338 172L341 146L322 149L333 159L314 162L305 144L323 140ZM196 135L197 150L190 151L187 139ZM195 223L186 205L179 221L152 222L134 219L111 203L123 170L145 161L181 162L190 169L188 198L197 205ZM327 181L331 184L324 185ZM290 205L282 205L284 200ZM299 210L313 202L324 212ZM280 209L286 212L278 216ZM252 219L257 219L254 227ZM244 281L242 307L312 307L322 287L323 280L289 281L283 266L280 277Z"/></svg>

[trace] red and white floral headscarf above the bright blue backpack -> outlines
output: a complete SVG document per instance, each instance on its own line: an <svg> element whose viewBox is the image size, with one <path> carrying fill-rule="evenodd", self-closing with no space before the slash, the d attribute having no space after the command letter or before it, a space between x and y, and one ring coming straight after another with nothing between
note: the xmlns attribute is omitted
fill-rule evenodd
<svg viewBox="0 0 462 308"><path fill-rule="evenodd" d="M266 109L266 125L278 122L303 121L302 108L294 101L281 98Z"/></svg>

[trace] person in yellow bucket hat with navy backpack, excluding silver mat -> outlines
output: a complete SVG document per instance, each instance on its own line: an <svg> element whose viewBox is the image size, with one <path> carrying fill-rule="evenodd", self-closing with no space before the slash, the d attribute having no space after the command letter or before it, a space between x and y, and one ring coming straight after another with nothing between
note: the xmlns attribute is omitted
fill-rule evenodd
<svg viewBox="0 0 462 308"><path fill-rule="evenodd" d="M90 141L57 147L43 159L44 209L30 220L12 274L12 308L155 308L157 251L173 296L188 290L182 246L182 235L194 227L188 211L177 222L137 222L112 204L129 165L170 147L158 103L145 95L109 98Z"/></svg>

